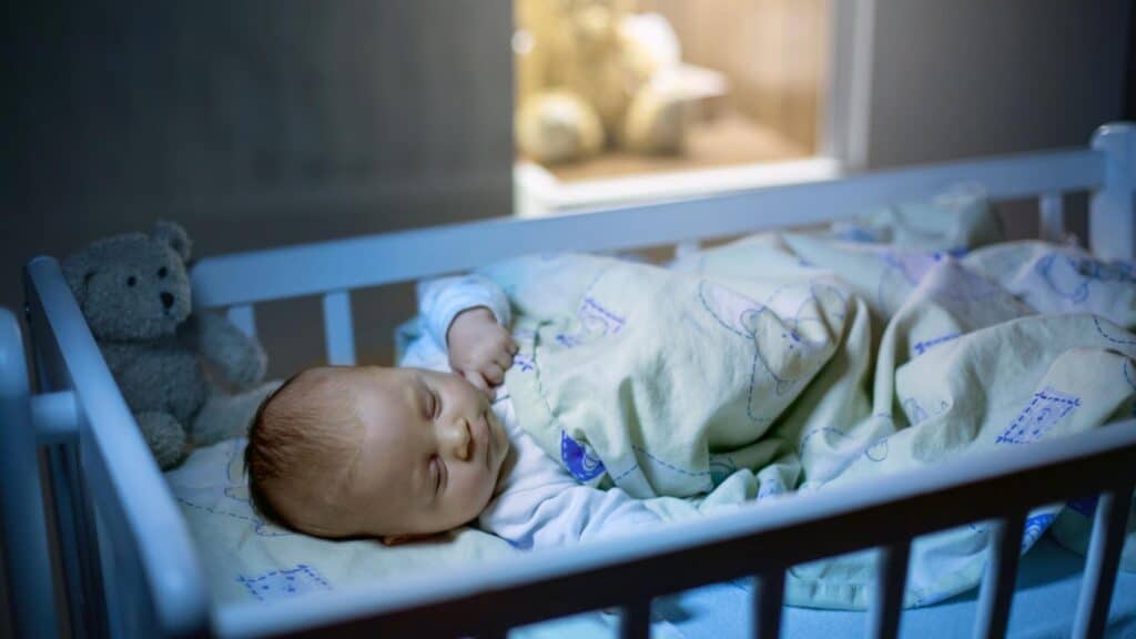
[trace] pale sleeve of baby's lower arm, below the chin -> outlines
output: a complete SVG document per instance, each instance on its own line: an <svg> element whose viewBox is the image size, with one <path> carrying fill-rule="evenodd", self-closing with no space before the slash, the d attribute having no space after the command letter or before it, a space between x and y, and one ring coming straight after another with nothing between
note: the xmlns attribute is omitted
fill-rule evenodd
<svg viewBox="0 0 1136 639"><path fill-rule="evenodd" d="M478 523L515 547L548 548L621 537L660 523L642 501L618 488L582 486L529 435L510 432L510 440L517 448L517 466Z"/></svg>

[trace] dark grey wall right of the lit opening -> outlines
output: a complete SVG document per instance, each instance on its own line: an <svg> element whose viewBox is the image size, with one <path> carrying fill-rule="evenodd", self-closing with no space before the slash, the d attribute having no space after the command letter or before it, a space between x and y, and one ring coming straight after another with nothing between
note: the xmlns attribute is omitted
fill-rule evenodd
<svg viewBox="0 0 1136 639"><path fill-rule="evenodd" d="M1130 27L1128 0L875 0L868 168L1086 144L1125 114Z"/></svg>

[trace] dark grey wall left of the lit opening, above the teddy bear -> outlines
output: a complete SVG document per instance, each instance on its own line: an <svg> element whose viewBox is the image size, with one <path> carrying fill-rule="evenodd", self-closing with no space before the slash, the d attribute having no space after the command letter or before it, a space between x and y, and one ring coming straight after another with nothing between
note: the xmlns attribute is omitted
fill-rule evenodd
<svg viewBox="0 0 1136 639"><path fill-rule="evenodd" d="M511 213L508 0L9 10L2 305L34 255L157 218L202 256ZM357 298L361 349L389 358L409 290ZM258 317L275 374L320 357L315 302Z"/></svg>

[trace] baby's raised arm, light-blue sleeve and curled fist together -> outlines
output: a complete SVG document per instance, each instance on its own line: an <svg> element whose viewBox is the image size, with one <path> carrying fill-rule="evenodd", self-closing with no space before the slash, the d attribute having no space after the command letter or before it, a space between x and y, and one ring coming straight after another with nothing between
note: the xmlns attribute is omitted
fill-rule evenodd
<svg viewBox="0 0 1136 639"><path fill-rule="evenodd" d="M479 275L431 280L418 285L418 308L453 372L492 396L517 352L501 288Z"/></svg>

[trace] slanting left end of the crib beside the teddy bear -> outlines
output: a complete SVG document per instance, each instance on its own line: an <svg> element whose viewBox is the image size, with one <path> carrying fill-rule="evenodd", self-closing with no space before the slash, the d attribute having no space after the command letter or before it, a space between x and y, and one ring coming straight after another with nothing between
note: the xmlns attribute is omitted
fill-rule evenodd
<svg viewBox="0 0 1136 639"><path fill-rule="evenodd" d="M209 628L189 528L51 258L26 268L40 392L76 420L45 448L76 637L194 637ZM39 396L44 397L44 396Z"/></svg>

